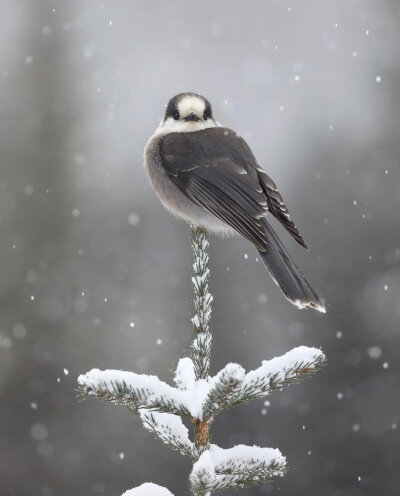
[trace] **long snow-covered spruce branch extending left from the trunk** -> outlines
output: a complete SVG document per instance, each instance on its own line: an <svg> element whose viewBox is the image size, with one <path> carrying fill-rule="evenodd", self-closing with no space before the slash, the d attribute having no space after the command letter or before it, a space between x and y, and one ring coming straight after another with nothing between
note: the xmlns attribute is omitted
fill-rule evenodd
<svg viewBox="0 0 400 496"><path fill-rule="evenodd" d="M97 397L125 406L135 413L145 408L175 415L190 415L185 406L185 393L154 375L92 369L78 377L78 384L81 396Z"/></svg>

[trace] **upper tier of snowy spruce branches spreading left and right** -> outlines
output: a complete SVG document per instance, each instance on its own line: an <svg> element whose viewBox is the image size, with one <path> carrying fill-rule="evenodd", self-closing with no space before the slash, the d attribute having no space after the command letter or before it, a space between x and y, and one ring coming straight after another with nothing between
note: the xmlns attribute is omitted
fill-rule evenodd
<svg viewBox="0 0 400 496"><path fill-rule="evenodd" d="M195 379L193 361L181 359L174 378L177 388L156 376L121 370L93 369L79 376L78 383L82 396L119 404L135 413L147 409L203 421L234 405L300 382L324 363L322 351L300 346L263 361L261 367L247 374L240 365L229 363L214 377L199 380Z"/></svg>

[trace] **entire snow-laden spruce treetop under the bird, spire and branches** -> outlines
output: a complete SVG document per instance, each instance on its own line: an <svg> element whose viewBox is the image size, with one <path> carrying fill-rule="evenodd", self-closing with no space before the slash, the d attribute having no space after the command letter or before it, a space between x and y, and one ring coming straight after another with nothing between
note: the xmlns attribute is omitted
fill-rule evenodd
<svg viewBox="0 0 400 496"><path fill-rule="evenodd" d="M82 397L95 397L128 408L162 443L190 456L191 492L194 496L209 496L216 491L269 482L282 477L287 469L286 459L277 449L243 445L222 449L211 444L210 429L215 416L301 381L324 365L325 356L319 349L300 346L281 357L263 361L250 372L246 373L239 364L228 363L215 376L210 376L212 296L206 231L192 228L191 241L195 339L191 357L178 362L176 387L156 376L98 369L79 376L78 384ZM193 441L182 417L193 425ZM172 496L166 488L152 483L124 493L128 495Z"/></svg>

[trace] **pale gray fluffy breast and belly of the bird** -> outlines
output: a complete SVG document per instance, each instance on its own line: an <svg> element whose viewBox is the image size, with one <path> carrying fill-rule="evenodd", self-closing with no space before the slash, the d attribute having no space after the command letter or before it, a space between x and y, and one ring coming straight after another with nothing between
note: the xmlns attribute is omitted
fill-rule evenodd
<svg viewBox="0 0 400 496"><path fill-rule="evenodd" d="M144 150L144 163L150 182L164 207L194 226L205 227L215 233L234 234L227 224L189 200L171 181L162 165L159 148L162 139L162 135L150 138Z"/></svg>

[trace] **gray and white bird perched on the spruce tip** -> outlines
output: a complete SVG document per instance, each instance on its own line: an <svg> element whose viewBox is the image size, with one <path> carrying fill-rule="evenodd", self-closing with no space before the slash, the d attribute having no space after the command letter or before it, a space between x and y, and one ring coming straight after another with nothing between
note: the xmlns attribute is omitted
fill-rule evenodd
<svg viewBox="0 0 400 496"><path fill-rule="evenodd" d="M245 140L214 119L210 102L180 93L144 150L150 183L175 217L215 234L239 233L257 249L286 299L325 313L314 291L270 225L274 217L304 248L275 182Z"/></svg>

